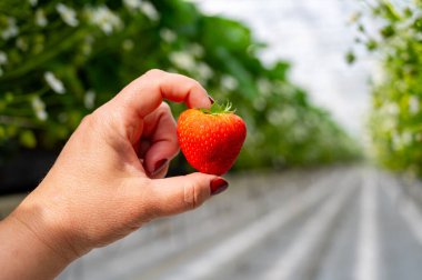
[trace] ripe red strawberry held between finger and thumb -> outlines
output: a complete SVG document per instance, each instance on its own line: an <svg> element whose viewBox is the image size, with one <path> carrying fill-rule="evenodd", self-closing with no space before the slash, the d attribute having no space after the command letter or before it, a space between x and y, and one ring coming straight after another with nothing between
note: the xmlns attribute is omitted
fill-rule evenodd
<svg viewBox="0 0 422 280"><path fill-rule="evenodd" d="M217 102L211 109L188 109L178 120L178 139L188 162L203 173L229 171L247 137L244 121Z"/></svg>

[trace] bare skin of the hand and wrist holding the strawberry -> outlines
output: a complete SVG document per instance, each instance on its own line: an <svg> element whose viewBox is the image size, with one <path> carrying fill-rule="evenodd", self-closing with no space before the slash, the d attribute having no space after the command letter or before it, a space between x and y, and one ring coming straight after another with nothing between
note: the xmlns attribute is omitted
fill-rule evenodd
<svg viewBox="0 0 422 280"><path fill-rule="evenodd" d="M217 176L163 179L165 159L179 152L163 99L211 106L197 81L151 70L87 116L38 188L0 222L1 279L53 279L93 248L210 198Z"/></svg>

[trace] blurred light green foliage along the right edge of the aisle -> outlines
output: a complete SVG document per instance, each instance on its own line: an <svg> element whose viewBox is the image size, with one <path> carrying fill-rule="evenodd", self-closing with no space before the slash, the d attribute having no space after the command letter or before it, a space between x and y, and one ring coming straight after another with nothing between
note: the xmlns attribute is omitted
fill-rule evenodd
<svg viewBox="0 0 422 280"><path fill-rule="evenodd" d="M422 2L378 1L371 9L381 27L361 32L382 68L372 87L374 156L388 168L422 176Z"/></svg>

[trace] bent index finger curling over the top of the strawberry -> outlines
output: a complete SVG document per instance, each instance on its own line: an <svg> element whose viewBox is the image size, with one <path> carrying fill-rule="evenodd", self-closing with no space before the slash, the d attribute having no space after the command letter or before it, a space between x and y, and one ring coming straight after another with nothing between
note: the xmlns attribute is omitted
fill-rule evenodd
<svg viewBox="0 0 422 280"><path fill-rule="evenodd" d="M163 99L185 102L189 108L210 108L211 101L202 86L185 76L150 70L129 83L114 98L127 113L143 118L155 110Z"/></svg>

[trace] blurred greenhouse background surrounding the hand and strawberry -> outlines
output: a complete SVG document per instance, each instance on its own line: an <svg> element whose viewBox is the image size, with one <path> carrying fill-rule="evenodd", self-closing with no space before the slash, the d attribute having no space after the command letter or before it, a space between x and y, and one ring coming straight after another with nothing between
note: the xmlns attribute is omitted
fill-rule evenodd
<svg viewBox="0 0 422 280"><path fill-rule="evenodd" d="M419 0L2 0L0 218L159 68L245 120L231 187L59 279L420 279L421 66Z"/></svg>

